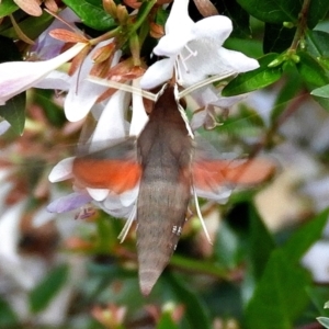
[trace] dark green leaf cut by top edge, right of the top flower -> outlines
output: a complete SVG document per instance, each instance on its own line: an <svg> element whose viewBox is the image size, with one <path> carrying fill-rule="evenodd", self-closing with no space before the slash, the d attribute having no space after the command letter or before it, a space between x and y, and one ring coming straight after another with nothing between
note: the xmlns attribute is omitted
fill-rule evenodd
<svg viewBox="0 0 329 329"><path fill-rule="evenodd" d="M252 16L269 23L296 23L302 0L237 0Z"/></svg>

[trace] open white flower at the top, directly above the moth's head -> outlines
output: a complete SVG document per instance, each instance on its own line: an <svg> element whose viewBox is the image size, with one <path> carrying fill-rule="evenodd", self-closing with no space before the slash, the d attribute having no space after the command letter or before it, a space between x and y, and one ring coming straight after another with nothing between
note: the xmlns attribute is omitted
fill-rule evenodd
<svg viewBox="0 0 329 329"><path fill-rule="evenodd" d="M239 52L222 47L232 30L223 15L194 23L188 13L189 0L175 0L166 23L166 35L154 53L168 58L148 68L140 86L151 89L168 81L175 68L178 83L190 87L208 76L239 73L256 69L259 64Z"/></svg>

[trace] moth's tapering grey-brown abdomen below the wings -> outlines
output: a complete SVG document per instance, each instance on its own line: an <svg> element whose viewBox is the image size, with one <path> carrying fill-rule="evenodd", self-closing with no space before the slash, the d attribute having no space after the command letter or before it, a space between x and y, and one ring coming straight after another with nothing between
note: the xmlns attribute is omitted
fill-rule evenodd
<svg viewBox="0 0 329 329"><path fill-rule="evenodd" d="M157 186L156 186L157 185ZM152 200L151 203L147 200ZM171 182L141 183L137 204L139 284L148 295L181 236L190 186Z"/></svg>

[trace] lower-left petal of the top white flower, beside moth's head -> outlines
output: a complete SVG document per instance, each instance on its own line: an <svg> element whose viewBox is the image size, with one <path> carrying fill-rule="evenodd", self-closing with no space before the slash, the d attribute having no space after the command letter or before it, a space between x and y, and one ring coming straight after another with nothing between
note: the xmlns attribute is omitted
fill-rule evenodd
<svg viewBox="0 0 329 329"><path fill-rule="evenodd" d="M164 58L151 65L140 79L143 89L152 89L168 81L173 73L174 57Z"/></svg>

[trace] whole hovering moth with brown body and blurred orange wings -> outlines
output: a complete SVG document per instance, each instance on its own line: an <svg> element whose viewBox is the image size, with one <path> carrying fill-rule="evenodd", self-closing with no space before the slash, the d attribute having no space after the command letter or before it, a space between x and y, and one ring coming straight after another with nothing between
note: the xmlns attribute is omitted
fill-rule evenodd
<svg viewBox="0 0 329 329"><path fill-rule="evenodd" d="M150 293L175 249L191 192L195 200L197 194L223 203L235 186L260 183L275 170L266 159L225 159L191 136L174 87L167 84L137 139L128 137L99 151L87 151L72 164L78 186L106 189L120 197L139 185L137 201L131 202L137 208L137 257L144 295ZM134 211L135 206L121 235L123 239ZM203 223L200 209L198 216Z"/></svg>

